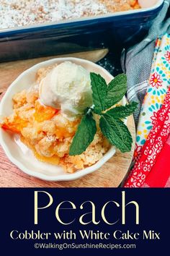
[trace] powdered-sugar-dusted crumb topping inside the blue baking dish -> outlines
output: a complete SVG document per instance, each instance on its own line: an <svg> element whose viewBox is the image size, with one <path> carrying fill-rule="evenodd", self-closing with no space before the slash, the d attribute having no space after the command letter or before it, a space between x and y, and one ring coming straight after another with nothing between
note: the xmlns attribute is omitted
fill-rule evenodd
<svg viewBox="0 0 170 256"><path fill-rule="evenodd" d="M139 8L137 0L0 0L0 29Z"/></svg>

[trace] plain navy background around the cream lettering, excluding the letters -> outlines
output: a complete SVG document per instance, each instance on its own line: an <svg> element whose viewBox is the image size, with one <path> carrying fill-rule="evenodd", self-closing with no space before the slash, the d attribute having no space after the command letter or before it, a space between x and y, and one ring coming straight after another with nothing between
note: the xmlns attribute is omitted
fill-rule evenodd
<svg viewBox="0 0 170 256"><path fill-rule="evenodd" d="M34 225L34 191L44 190L53 196L53 205L50 208L41 210L39 214L39 223ZM140 207L140 225L135 225L135 208L128 205L126 208L126 224L121 224L121 208L112 205L107 208L107 217L110 221L120 218L120 222L109 226L100 218L102 205L109 200L115 200L121 203L122 191L126 192L126 203L131 200L138 202ZM169 195L170 189L0 189L0 255L169 255ZM40 195L39 206L47 203L48 197ZM63 218L76 218L76 221L68 226L63 226L55 218L55 208L59 202L64 200L72 201L77 210L66 210ZM91 200L97 206L97 220L100 219L99 225L94 224L82 226L79 223L79 216L88 212L80 210L82 202ZM90 208L89 208L90 211ZM121 231L130 230L130 232L139 232L143 230L154 230L161 233L160 240L106 240L103 243L112 244L136 244L136 249L35 249L35 242L42 243L63 243L49 239L48 241L36 240L12 240L9 236L13 229L20 232L37 231L41 232L59 232L72 231L76 232L76 241L64 241L67 243L86 243L88 240L80 239L79 229L86 231L103 231L110 232L120 229ZM95 244L101 241L90 241ZM2 253L3 252L3 253Z"/></svg>

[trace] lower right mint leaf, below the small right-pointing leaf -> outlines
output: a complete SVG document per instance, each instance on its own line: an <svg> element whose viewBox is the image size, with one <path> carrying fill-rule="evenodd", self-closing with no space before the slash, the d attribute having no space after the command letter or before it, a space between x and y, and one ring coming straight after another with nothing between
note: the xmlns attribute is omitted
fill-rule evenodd
<svg viewBox="0 0 170 256"><path fill-rule="evenodd" d="M122 153L129 152L132 148L133 139L128 127L120 119L103 114L99 120L99 126L104 137L115 145Z"/></svg>

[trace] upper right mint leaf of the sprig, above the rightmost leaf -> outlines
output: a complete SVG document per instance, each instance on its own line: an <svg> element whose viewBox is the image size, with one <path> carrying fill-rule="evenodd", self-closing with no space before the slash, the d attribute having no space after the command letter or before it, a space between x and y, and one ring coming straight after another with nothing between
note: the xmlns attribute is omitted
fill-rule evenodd
<svg viewBox="0 0 170 256"><path fill-rule="evenodd" d="M105 109L111 108L122 100L127 90L126 74L118 74L107 87L107 97L105 98Z"/></svg>

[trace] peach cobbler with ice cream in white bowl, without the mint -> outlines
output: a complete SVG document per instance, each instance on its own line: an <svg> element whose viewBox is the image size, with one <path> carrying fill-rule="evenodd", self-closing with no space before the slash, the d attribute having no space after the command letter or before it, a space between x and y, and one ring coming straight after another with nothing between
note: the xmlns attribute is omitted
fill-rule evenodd
<svg viewBox="0 0 170 256"><path fill-rule="evenodd" d="M65 72L62 74L63 69ZM70 69L74 74L67 79L67 72L70 72ZM39 161L62 166L69 173L93 165L109 148L109 142L98 127L94 140L84 153L69 155L73 136L81 121L82 109L91 104L89 73L81 69L69 62L58 67L39 69L35 85L14 95L13 113L5 117L1 124L3 129L19 134L20 140L32 150ZM51 78L52 84L56 82L55 76L60 77L61 85L58 85L58 94L52 95L46 86ZM62 86L71 79L73 83L73 77L77 77L74 88L71 89L69 85L69 88L62 90ZM75 82L81 82L83 93L79 90L75 92ZM73 98L70 93L73 94Z"/></svg>

